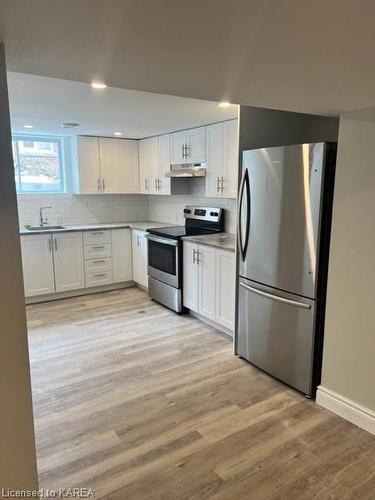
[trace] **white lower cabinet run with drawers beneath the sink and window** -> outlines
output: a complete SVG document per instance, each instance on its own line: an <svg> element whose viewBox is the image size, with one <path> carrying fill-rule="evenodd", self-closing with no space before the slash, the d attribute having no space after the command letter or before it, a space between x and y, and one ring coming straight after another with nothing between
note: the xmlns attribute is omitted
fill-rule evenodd
<svg viewBox="0 0 375 500"><path fill-rule="evenodd" d="M133 279L129 228L32 234L21 237L21 249L25 297Z"/></svg>

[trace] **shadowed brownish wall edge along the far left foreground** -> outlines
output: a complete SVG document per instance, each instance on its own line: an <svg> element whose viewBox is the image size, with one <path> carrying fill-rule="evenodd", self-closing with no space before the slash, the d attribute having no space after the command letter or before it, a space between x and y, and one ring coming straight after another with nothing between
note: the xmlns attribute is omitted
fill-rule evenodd
<svg viewBox="0 0 375 500"><path fill-rule="evenodd" d="M36 489L33 414L4 47L0 44L0 488Z"/></svg>

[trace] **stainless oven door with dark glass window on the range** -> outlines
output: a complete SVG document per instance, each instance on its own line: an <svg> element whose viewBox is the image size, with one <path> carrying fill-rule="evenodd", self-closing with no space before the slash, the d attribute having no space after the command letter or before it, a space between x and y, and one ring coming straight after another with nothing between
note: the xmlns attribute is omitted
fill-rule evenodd
<svg viewBox="0 0 375 500"><path fill-rule="evenodd" d="M167 285L180 288L181 244L177 240L153 234L148 239L148 275Z"/></svg>

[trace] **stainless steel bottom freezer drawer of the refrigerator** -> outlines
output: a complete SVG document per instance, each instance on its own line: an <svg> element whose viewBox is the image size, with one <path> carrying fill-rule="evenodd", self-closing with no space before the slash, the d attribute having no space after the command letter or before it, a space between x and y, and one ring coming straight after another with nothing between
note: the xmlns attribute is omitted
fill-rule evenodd
<svg viewBox="0 0 375 500"><path fill-rule="evenodd" d="M236 353L310 395L316 303L240 278Z"/></svg>

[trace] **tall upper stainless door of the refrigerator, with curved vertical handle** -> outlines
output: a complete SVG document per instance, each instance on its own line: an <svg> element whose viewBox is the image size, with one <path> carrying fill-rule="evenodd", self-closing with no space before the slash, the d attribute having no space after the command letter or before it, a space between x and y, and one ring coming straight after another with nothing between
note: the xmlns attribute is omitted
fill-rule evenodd
<svg viewBox="0 0 375 500"><path fill-rule="evenodd" d="M316 298L325 144L243 153L239 274Z"/></svg>

